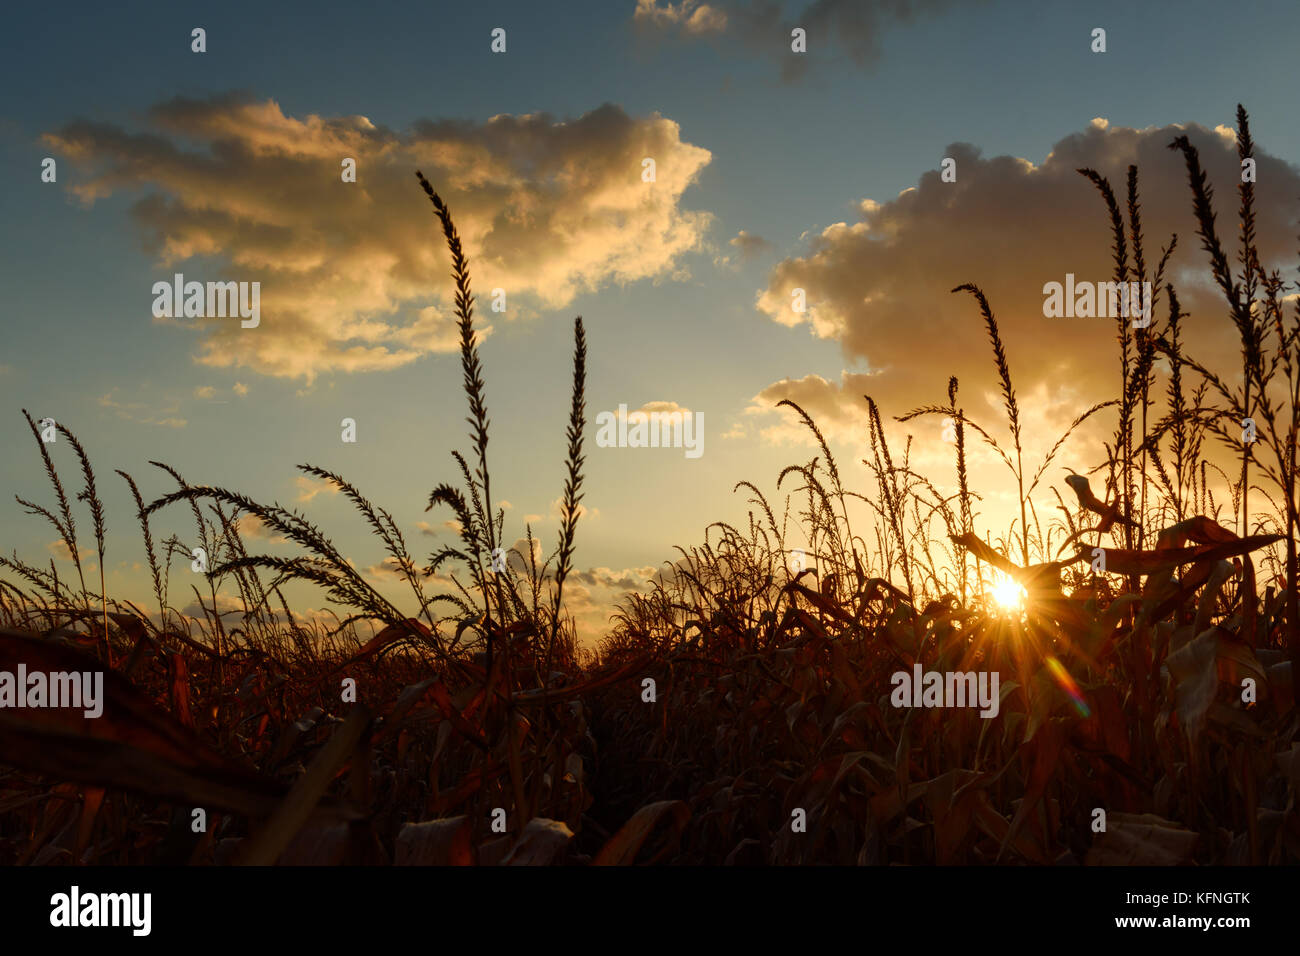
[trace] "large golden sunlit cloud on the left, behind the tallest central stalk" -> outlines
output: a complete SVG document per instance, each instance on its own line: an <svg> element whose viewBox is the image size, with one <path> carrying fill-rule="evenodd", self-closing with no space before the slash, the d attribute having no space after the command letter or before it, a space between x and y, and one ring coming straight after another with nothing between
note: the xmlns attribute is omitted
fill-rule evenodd
<svg viewBox="0 0 1300 956"><path fill-rule="evenodd" d="M152 131L90 120L46 144L79 170L87 206L143 193L131 215L160 280L257 281L261 321L194 324L196 360L304 380L384 371L456 347L447 250L413 172L455 216L474 287L560 308L608 284L679 276L710 216L681 208L710 153L658 113L606 104L577 118L291 116L274 100L216 95L156 105ZM642 159L655 181L642 182ZM341 178L356 161L356 182ZM196 259L224 263L220 274ZM140 290L140 311L152 304Z"/></svg>

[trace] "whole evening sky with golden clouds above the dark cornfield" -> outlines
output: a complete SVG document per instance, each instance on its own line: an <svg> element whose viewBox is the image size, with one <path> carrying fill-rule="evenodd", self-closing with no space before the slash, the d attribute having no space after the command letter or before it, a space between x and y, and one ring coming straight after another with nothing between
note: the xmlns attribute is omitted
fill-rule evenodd
<svg viewBox="0 0 1300 956"><path fill-rule="evenodd" d="M4 17L0 489L51 497L22 408L70 428L108 505L109 591L133 600L148 579L113 470L151 499L173 489L151 460L304 509L385 587L364 523L295 464L344 475L420 555L455 541L448 514L424 511L469 438L450 263L415 169L471 260L507 540L528 523L547 553L584 317L571 609L589 641L673 545L744 522L737 481L771 490L815 454L783 398L818 420L850 485L868 484L863 394L950 484L939 423L892 418L942 403L956 375L967 414L997 421L978 308L950 291L962 282L998 315L1035 449L1110 398L1113 325L1041 308L1045 282L1109 278L1105 211L1076 168L1122 193L1139 165L1148 256L1178 233L1188 334L1230 358L1166 146L1197 144L1231 230L1244 103L1268 264L1294 276L1294 3L73 3ZM260 324L155 316L153 284L176 273L260 282ZM701 415L702 454L597 446L595 415L620 405ZM1096 463L1101 424L1062 464ZM56 462L79 486L69 451ZM994 468L974 473L989 481L980 531L1002 533ZM185 519L165 512L155 533L185 537ZM43 563L52 537L0 509L4 553Z"/></svg>

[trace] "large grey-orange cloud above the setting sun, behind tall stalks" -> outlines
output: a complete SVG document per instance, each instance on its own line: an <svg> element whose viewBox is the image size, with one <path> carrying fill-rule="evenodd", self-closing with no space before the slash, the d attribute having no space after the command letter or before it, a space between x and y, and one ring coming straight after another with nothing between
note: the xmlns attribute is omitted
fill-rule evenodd
<svg viewBox="0 0 1300 956"><path fill-rule="evenodd" d="M835 429L863 421L863 394L892 416L945 402L948 377L957 375L958 401L968 414L996 410L1001 399L979 307L967 293L950 291L963 282L975 282L987 294L1018 392L1044 386L1050 395L1069 389L1079 397L1076 411L1114 397L1115 320L1044 316L1044 284L1063 282L1066 273L1079 281L1112 278L1105 204L1075 172L1082 166L1106 176L1123 204L1127 166L1138 165L1148 272L1170 234L1179 234L1165 278L1174 282L1190 313L1184 343L1212 365L1216 356L1235 354L1235 332L1222 298L1206 281L1206 258L1196 242L1183 159L1166 148L1183 133L1200 148L1209 178L1218 185L1219 235L1235 256L1240 165L1230 130L1196 125L1136 130L1093 121L1061 139L1041 165L1013 156L984 159L974 146L954 143L945 152L957 160L957 182L941 182L931 170L896 199L862 200L855 222L814 232L806 251L772 268L758 310L781 325L806 325L814 336L837 341L853 371L840 384L819 376L774 382L755 405L788 397ZM1258 147L1256 159L1265 267L1284 267L1296 233L1290 200L1300 194L1300 173ZM806 291L803 313L792 310L797 287ZM1157 329L1166 321L1167 295L1153 319ZM1162 390L1157 380L1156 392Z"/></svg>

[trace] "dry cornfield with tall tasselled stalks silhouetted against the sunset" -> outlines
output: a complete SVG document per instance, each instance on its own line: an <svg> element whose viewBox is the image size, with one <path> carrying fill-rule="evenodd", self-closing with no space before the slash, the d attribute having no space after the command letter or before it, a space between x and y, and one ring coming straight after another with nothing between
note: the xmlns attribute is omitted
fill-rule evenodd
<svg viewBox="0 0 1300 956"><path fill-rule="evenodd" d="M0 670L103 670L104 714L0 710L0 861L1296 862L1300 308L1261 265L1253 183L1239 189L1234 265L1196 148L1183 137L1170 148L1240 334L1239 369L1186 350L1166 274L1176 239L1149 255L1138 169L1122 199L1079 170L1104 204L1114 282L1156 290L1149 326L1117 324L1115 398L1031 454L993 304L959 285L1006 420L967 418L956 377L946 401L897 418L949 420L956 494L910 467L910 446L889 446L872 398L864 486L812 418L783 402L819 454L781 471L775 493L738 481L748 519L681 549L595 648L580 644L564 604L588 424L582 320L559 542L546 559L529 549L498 562L508 538L489 477L469 263L419 173L451 258L472 444L426 510L450 510L460 540L421 563L389 511L300 466L355 506L408 585L406 607L307 515L190 484L161 462L151 464L168 490L150 502L117 472L153 604L114 600L82 567L79 511L100 568L108 523L90 454L64 424L23 412L53 501L18 503L53 525L68 558L0 557ZM1254 150L1244 108L1238 150ZM1110 416L1096 459L1067 467L1066 438ZM1242 441L1243 419L1258 423L1257 441ZM62 442L43 441L44 428ZM1015 493L1018 519L998 535L978 527L968 442L996 453ZM1214 442L1234 473L1209 459ZM51 447L75 457L74 499ZM1216 498L1222 488L1230 499ZM855 531L850 510L870 527ZM192 537L155 541L159 516L176 512L192 518ZM250 553L248 518L299 557ZM199 618L169 594L173 563L195 549L208 561ZM302 623L289 581L318 588L343 617ZM220 611L230 596L239 610ZM915 669L1000 675L996 715L898 706L894 675Z"/></svg>

